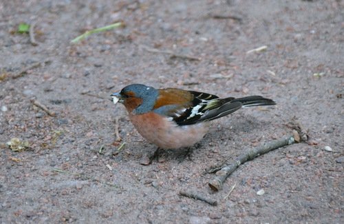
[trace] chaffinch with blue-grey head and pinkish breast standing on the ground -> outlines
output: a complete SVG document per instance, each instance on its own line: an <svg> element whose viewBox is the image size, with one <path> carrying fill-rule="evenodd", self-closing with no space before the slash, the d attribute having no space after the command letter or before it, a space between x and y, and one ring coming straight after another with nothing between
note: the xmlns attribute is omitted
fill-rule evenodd
<svg viewBox="0 0 344 224"><path fill-rule="evenodd" d="M115 104L119 101L125 105L138 132L163 149L194 145L208 131L209 121L240 108L276 104L262 96L219 99L205 92L142 84L127 85L111 96Z"/></svg>

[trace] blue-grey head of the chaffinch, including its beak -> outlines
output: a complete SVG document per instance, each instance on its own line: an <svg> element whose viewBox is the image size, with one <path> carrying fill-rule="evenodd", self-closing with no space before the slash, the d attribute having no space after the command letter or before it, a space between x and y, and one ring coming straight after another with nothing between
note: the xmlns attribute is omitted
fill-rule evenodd
<svg viewBox="0 0 344 224"><path fill-rule="evenodd" d="M118 97L120 103L126 104L129 99L142 99L142 103L132 111L133 114L144 114L153 110L156 99L158 99L159 91L151 86L143 84L127 85L120 92L115 92L111 96Z"/></svg>

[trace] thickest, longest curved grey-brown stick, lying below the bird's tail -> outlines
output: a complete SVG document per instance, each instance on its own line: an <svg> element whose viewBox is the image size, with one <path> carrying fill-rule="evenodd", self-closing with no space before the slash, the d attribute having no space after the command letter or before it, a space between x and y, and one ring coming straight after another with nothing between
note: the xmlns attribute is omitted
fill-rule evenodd
<svg viewBox="0 0 344 224"><path fill-rule="evenodd" d="M265 143L264 145L260 145L258 147L253 148L252 150L248 150L248 152L241 154L237 157L237 159L231 161L225 167L222 167L221 170L216 172L215 178L209 181L208 185L211 187L212 190L218 191L222 189L222 185L224 181L226 181L227 177L232 174L239 165L244 164L246 161L250 161L255 159L255 157L270 152L272 150L276 150L279 147L283 147L285 145L291 145L295 143L295 139L293 135L284 136L281 139L277 139L275 141L270 141Z"/></svg>

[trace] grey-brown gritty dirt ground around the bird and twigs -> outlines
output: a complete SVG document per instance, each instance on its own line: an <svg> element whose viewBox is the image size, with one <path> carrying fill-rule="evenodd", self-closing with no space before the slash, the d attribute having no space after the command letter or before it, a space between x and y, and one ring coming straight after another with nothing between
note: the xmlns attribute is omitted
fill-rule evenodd
<svg viewBox="0 0 344 224"><path fill-rule="evenodd" d="M341 0L1 1L0 223L344 223L343 12ZM70 43L116 21L125 27ZM23 22L38 45L17 33ZM214 121L188 156L140 165L155 146L109 101L129 83L277 105ZM308 143L208 187L205 170L291 133L292 119Z"/></svg>

